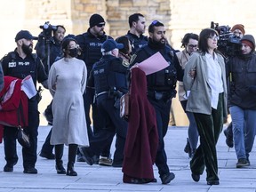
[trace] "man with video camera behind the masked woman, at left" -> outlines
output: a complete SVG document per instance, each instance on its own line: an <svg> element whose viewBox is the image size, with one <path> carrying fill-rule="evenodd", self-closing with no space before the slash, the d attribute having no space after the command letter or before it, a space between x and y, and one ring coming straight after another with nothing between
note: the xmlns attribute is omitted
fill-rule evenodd
<svg viewBox="0 0 256 192"><path fill-rule="evenodd" d="M39 35L36 53L43 60L45 72L48 74L53 62L62 56L61 42L65 36L66 28L61 25L52 26L49 22L45 22L44 26L40 26L40 28L43 28L43 32ZM52 125L52 101L44 110L44 116L48 124ZM55 158L52 153L54 146L50 144L51 134L52 130L47 135L39 154L39 156L47 159Z"/></svg>

